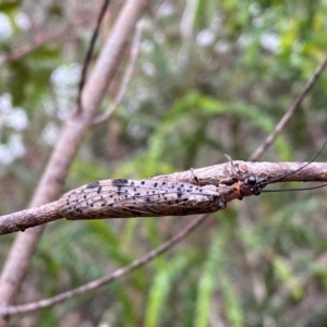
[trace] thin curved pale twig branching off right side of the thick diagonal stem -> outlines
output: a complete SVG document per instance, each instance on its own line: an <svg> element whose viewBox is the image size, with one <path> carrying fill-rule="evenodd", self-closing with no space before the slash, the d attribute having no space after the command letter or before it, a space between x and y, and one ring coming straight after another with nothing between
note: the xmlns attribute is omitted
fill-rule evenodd
<svg viewBox="0 0 327 327"><path fill-rule="evenodd" d="M110 118L111 113L116 110L116 108L120 105L121 100L123 99L128 85L133 75L133 71L137 59L140 45L141 45L141 37L142 37L142 22L138 22L135 27L134 38L131 47L130 60L124 76L122 78L121 85L119 87L119 90L112 104L109 106L106 112L95 119L94 125L98 125L106 122Z"/></svg>

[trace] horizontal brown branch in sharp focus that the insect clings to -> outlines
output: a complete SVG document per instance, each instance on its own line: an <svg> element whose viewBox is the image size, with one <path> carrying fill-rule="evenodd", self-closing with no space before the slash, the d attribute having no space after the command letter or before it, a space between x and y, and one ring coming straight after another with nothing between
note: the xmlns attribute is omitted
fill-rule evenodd
<svg viewBox="0 0 327 327"><path fill-rule="evenodd" d="M287 181L298 181L298 182L327 182L327 162L245 162L240 160L232 161L234 167L238 168L241 174L255 177L256 180L265 180L267 183L278 183ZM307 165L306 167L304 167ZM304 168L303 168L304 167ZM220 185L223 181L230 178L228 170L226 169L226 164L215 165L210 167L198 168L194 170L186 170L181 172L175 172L172 174L153 177L150 181L169 181L169 182L181 182L190 183L201 186L206 185ZM196 177L196 178L195 178ZM281 179L281 180L280 180ZM112 180L99 181L98 184L112 184ZM84 189L81 186L78 189ZM87 186L86 186L87 187ZM219 189L218 187L218 189ZM217 189L217 191L219 191ZM70 193L76 192L72 190ZM251 193L244 194L243 196L250 196ZM97 195L98 196L98 195ZM230 194L227 202L239 198L238 194ZM41 207L36 207L32 209L26 209L23 211L14 213L11 215L5 215L0 217L0 235L11 232L16 232L22 229L27 229L37 225L44 225L48 221L61 219L63 215L60 215L60 205L65 203L65 195L63 195L58 202L52 202L50 204L44 205ZM121 204L123 207L123 203ZM144 203L144 208L142 210L147 210L147 204ZM100 209L100 208L99 208ZM169 208L168 208L169 209ZM194 207L196 210L196 206ZM119 208L113 211L113 215L102 216L102 219L112 218L117 214ZM201 208L199 208L201 210ZM203 214L204 211L198 211ZM169 213L169 215L174 215ZM178 214L175 214L178 215ZM189 214L190 215L190 214ZM100 215L97 217L97 211L94 211L94 216L100 219ZM123 216L116 216L121 218L132 218L136 215L131 211L128 214L124 211ZM138 215L142 216L142 215ZM159 217L160 214L156 215L156 211L152 210L148 216ZM81 214L74 217L75 220L85 219ZM145 217L143 215L143 217ZM33 229L34 230L34 229ZM27 233L26 231L25 233Z"/></svg>

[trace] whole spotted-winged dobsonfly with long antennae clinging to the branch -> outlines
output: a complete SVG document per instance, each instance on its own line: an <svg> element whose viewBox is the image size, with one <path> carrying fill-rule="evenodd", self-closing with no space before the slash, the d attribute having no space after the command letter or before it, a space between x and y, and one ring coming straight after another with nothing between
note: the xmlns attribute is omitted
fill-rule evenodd
<svg viewBox="0 0 327 327"><path fill-rule="evenodd" d="M228 178L221 180L218 185L199 186L196 177L194 180L197 185L169 179L165 181L114 179L92 182L64 194L58 201L58 213L70 220L215 213L225 209L227 203L234 198L242 199L244 196L259 195L262 192L278 192L263 189L308 166L320 155L324 147L300 169L272 180L258 179L255 174L241 172L238 165L227 156L229 161L225 174ZM192 170L191 172L193 173ZM298 190L323 186L326 185Z"/></svg>

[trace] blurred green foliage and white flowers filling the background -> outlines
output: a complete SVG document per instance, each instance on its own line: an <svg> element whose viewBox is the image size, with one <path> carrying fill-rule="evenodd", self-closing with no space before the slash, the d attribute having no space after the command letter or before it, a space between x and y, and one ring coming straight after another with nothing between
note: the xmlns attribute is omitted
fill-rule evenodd
<svg viewBox="0 0 327 327"><path fill-rule="evenodd" d="M83 10L98 10L74 3L0 3L0 22L5 16L12 28L1 34L0 56L74 22ZM225 153L246 160L326 56L326 14L323 0L153 1L124 99L85 140L65 189L225 162ZM1 214L27 206L74 105L73 72L89 35L90 26L75 27L1 66L0 96L11 95L29 121L22 131L25 155L0 167ZM110 86L101 110L116 88ZM326 104L324 73L262 159L312 158L326 141ZM12 130L2 124L0 131L5 146ZM325 152L319 160L326 158ZM326 326L325 192L231 203L147 266L92 294L13 318L12 326L24 319L34 326ZM20 302L113 271L191 219L50 223ZM12 240L1 238L0 262Z"/></svg>

